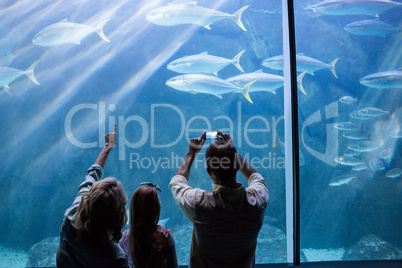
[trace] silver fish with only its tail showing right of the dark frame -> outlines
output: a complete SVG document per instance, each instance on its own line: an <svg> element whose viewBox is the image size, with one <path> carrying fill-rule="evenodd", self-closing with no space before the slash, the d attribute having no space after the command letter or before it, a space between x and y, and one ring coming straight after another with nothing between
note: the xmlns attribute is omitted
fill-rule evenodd
<svg viewBox="0 0 402 268"><path fill-rule="evenodd" d="M297 87L301 92L303 92L303 94L307 95L302 84L302 80L305 73L306 72L303 72L297 77ZM262 70L255 71L254 73L236 75L226 79L226 81L238 87L244 87L251 81L255 81L255 83L253 84L253 86L250 87L248 92L267 91L276 94L276 90L280 87L283 87L282 76L267 74L262 72Z"/></svg>

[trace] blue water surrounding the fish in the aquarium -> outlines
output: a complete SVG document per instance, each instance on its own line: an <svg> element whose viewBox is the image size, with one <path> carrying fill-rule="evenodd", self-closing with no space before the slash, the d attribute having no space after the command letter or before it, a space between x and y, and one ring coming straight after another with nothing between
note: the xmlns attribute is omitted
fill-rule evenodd
<svg viewBox="0 0 402 268"><path fill-rule="evenodd" d="M402 182L400 177L385 176L389 169L401 167L401 143L400 138L384 134L402 122L401 89L379 90L359 83L363 76L402 66L402 39L399 33L351 35L343 27L367 16L322 15L308 8L319 1L296 2L297 52L325 63L339 58L338 79L329 69L307 74L303 79L307 95L299 93L300 150L305 158L300 167L302 248L347 248L372 233L402 247ZM40 60L35 77L41 84L23 76L10 84L11 95L0 94L0 243L29 249L46 237L58 236L63 213L115 122L118 145L109 156L105 176L121 180L128 196L140 182L160 185L161 218L170 218L167 227L176 233L181 263L188 261L189 240L180 237L189 235L191 224L167 186L186 153L188 139L204 129L229 132L238 151L253 161L270 192L263 230L272 225L285 232L284 153L276 139L284 140L283 89L275 95L253 92L251 104L242 94L229 93L220 99L165 85L178 75L166 69L169 62L205 51L232 59L245 49L240 60L245 72L263 69L283 75L261 66L264 59L283 54L281 1L198 2L230 14L250 5L242 15L247 32L230 19L211 24L211 30L196 25L159 26L145 20L150 10L168 3L0 3L0 66L25 70ZM399 26L400 12L401 8L390 9L380 19ZM36 33L64 19L95 26L105 18L111 19L104 27L110 43L92 33L80 45L32 44ZM238 69L228 65L219 77L238 74ZM358 104L339 103L345 95L357 97ZM349 113L364 107L390 111L391 117L365 122L349 118ZM315 116L320 120L308 125ZM383 139L393 154L387 161L380 159L383 170L359 171L350 183L329 187L331 178L350 171L333 161L350 142L333 128L333 123L342 121L362 125L363 132L372 139ZM335 142L327 143L329 133L335 132L339 134ZM312 151L326 156L317 157ZM193 166L190 185L212 190L204 154L205 148ZM378 159L378 154L364 153L362 158ZM245 183L240 175L238 181ZM272 240L264 239L259 241L257 262L286 262L283 243L276 247L275 257L263 258L273 250Z"/></svg>

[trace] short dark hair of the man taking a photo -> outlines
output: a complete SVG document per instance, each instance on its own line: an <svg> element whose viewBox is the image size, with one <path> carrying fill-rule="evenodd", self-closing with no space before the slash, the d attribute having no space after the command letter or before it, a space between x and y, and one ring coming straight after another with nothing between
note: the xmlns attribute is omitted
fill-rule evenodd
<svg viewBox="0 0 402 268"><path fill-rule="evenodd" d="M205 153L205 160L209 170L222 180L232 179L239 170L236 148L228 141L212 143Z"/></svg>

